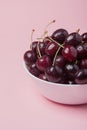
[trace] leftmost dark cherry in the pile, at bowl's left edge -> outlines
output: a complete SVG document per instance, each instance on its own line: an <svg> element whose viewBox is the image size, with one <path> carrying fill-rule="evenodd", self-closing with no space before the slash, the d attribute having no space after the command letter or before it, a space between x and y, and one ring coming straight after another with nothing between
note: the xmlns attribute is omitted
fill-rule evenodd
<svg viewBox="0 0 87 130"><path fill-rule="evenodd" d="M35 63L36 60L37 60L37 56L32 50L25 52L25 54L24 54L25 64L30 65L32 63Z"/></svg>

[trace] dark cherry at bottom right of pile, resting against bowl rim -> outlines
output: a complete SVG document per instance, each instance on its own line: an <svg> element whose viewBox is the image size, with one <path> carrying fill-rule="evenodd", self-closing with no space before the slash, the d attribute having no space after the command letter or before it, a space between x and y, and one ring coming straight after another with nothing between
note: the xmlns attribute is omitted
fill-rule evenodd
<svg viewBox="0 0 87 130"><path fill-rule="evenodd" d="M80 69L75 75L77 84L87 84L87 69Z"/></svg>

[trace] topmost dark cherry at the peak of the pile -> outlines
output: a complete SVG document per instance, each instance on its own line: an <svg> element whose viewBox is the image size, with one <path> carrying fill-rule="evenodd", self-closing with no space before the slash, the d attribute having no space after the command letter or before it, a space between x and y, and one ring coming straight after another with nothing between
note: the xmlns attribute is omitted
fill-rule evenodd
<svg viewBox="0 0 87 130"><path fill-rule="evenodd" d="M52 34L52 38L53 38L55 41L57 41L57 42L59 42L59 43L61 43L61 44L64 43L65 38L66 38L67 36L68 36L68 32L67 32L67 30L65 30L65 29L58 29L58 30L56 30L56 31Z"/></svg>

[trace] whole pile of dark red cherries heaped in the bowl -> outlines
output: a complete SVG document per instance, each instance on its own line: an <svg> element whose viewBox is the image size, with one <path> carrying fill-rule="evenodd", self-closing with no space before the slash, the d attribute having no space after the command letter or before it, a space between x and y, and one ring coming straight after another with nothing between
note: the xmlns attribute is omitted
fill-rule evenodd
<svg viewBox="0 0 87 130"><path fill-rule="evenodd" d="M33 30L34 31L34 30ZM87 32L80 35L57 29L45 31L24 53L24 62L34 76L61 84L87 84Z"/></svg>

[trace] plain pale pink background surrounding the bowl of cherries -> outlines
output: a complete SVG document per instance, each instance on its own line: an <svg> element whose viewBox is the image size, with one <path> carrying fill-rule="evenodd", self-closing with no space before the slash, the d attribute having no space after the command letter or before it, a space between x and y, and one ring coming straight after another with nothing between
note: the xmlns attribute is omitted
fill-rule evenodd
<svg viewBox="0 0 87 130"><path fill-rule="evenodd" d="M0 130L87 129L87 105L47 101L22 66L31 30L40 36L53 19L50 32L87 31L87 0L0 0Z"/></svg>

